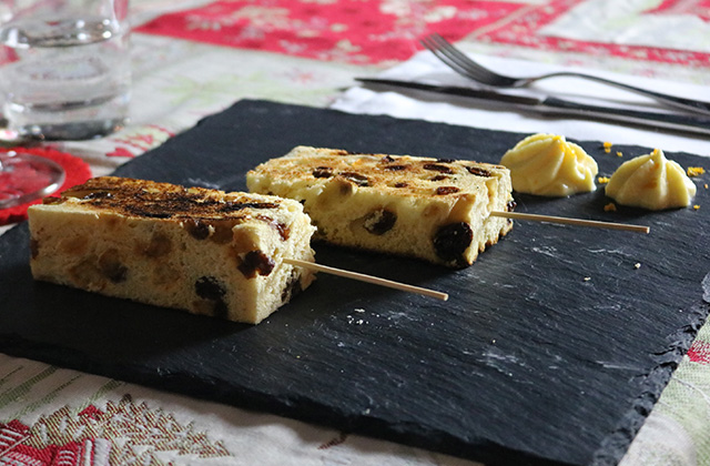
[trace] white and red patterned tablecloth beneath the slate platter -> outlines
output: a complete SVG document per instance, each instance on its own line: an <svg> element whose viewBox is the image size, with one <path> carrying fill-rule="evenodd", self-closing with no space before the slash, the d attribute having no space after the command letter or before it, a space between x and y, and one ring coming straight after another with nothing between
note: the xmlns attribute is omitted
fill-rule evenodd
<svg viewBox="0 0 710 466"><path fill-rule="evenodd" d="M710 85L704 0L136 0L131 8L132 123L102 140L49 146L81 158L94 175L239 99L342 105L354 77L408 60L422 50L418 38L435 31L484 55ZM710 155L704 143L698 152ZM622 464L709 465L709 399L706 326ZM0 354L0 464L471 463Z"/></svg>

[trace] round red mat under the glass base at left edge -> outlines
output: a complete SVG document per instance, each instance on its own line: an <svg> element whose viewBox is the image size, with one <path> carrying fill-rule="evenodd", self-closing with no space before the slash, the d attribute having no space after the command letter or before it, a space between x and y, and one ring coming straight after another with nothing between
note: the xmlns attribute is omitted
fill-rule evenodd
<svg viewBox="0 0 710 466"><path fill-rule="evenodd" d="M64 152L59 152L49 148L0 148L2 152L18 151L26 152L32 155L44 156L57 163L59 163L67 173L64 184L58 190L61 192L73 185L81 184L91 178L91 169L89 164L75 155L71 155ZM0 210L0 225L21 222L27 219L27 209L32 204L39 204L42 200L38 199L27 204L16 205L14 207Z"/></svg>

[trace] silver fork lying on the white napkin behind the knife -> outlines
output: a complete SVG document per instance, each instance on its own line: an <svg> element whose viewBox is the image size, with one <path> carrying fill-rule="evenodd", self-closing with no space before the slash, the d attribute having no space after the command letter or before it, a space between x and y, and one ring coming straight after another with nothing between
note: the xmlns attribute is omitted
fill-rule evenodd
<svg viewBox="0 0 710 466"><path fill-rule="evenodd" d="M464 52L458 50L450 42L448 42L446 39L444 39L437 33L425 37L424 39L420 40L420 42L425 48L432 51L439 60L442 60L446 65L448 65L450 69L453 69L457 73L490 87L523 88L541 79L557 78L557 77L576 77L576 78L584 78L584 79L588 79L597 82L602 82L605 84L613 85L616 88L621 88L627 91L636 92L638 94L651 97L656 99L658 102L665 103L667 105L680 108L686 111L691 111L694 113L702 113L702 114L710 114L710 102L702 102L702 101L692 100L692 99L683 99L680 97L662 94L660 92L649 91L648 89L636 88L633 85L610 81L608 79L595 77L591 74L575 73L571 71L560 71L556 73L547 73L547 74L542 74L538 77L529 77L529 78L506 77L503 74L498 74L480 65L479 63L476 63L468 55L464 54Z"/></svg>

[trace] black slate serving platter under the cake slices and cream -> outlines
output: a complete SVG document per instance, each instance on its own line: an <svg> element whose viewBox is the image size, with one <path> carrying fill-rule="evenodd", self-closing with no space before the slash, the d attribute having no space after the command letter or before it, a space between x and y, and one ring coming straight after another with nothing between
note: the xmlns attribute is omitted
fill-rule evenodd
<svg viewBox="0 0 710 466"><path fill-rule="evenodd" d="M495 163L524 135L241 101L115 174L244 190L297 144ZM580 144L606 175L650 152ZM316 245L323 264L450 298L321 275L257 326L36 283L20 225L0 237L0 351L491 465L611 465L708 314L704 182L700 210L656 213L607 213L602 190L517 195L520 212L651 233L518 221L462 271Z"/></svg>

